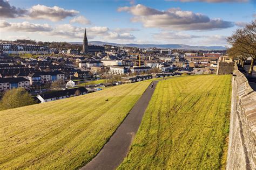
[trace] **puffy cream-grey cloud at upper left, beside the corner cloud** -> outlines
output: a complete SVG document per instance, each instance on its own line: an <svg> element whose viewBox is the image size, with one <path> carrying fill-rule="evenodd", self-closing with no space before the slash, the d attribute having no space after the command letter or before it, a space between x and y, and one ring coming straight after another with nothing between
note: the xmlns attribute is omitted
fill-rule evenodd
<svg viewBox="0 0 256 170"><path fill-rule="evenodd" d="M32 19L49 19L53 22L57 22L66 17L74 17L79 12L76 10L65 10L59 8L59 6L45 6L45 5L35 5L29 9L29 17Z"/></svg>

